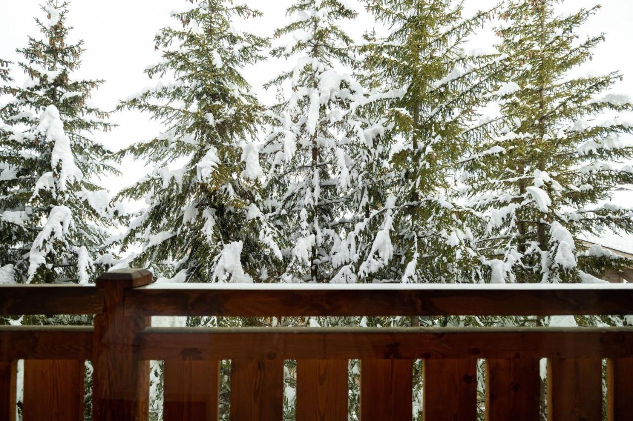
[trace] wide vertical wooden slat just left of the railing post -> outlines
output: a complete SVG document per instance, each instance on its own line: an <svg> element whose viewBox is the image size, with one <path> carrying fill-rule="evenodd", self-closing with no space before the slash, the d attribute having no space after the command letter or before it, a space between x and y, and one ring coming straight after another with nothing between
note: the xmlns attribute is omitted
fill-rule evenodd
<svg viewBox="0 0 633 421"><path fill-rule="evenodd" d="M25 360L23 421L84 421L84 362Z"/></svg>

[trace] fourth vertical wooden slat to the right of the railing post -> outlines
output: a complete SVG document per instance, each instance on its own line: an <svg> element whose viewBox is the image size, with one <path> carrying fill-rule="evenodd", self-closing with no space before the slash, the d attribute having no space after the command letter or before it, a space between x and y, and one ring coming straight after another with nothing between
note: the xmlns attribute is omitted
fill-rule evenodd
<svg viewBox="0 0 633 421"><path fill-rule="evenodd" d="M413 360L361 360L361 421L413 417Z"/></svg>

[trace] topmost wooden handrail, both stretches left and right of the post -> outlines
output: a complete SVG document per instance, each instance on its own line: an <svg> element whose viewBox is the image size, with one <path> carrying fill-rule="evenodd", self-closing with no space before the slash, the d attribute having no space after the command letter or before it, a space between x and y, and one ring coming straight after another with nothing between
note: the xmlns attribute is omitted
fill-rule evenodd
<svg viewBox="0 0 633 421"><path fill-rule="evenodd" d="M101 314L103 300L94 285L0 286L0 315ZM633 284L152 284L125 291L125 314L622 315Z"/></svg>

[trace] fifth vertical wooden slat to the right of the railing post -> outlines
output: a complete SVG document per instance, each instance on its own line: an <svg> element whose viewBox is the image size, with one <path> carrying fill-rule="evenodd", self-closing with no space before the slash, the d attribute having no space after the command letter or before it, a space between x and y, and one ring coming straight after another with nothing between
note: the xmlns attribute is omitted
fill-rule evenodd
<svg viewBox="0 0 633 421"><path fill-rule="evenodd" d="M424 360L425 421L477 419L477 360Z"/></svg>

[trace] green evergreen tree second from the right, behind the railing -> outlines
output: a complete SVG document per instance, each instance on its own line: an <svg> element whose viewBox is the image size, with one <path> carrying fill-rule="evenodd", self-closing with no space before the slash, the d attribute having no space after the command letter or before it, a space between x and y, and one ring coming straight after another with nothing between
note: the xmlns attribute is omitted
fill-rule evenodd
<svg viewBox="0 0 633 421"><path fill-rule="evenodd" d="M397 200L386 202L393 221L385 232L393 244L390 276L470 281L472 215L458 201L454 176L470 143L482 136L486 124L478 123L477 111L501 66L496 54L466 52L464 44L492 11L462 18L461 2L452 0L367 4L389 28L386 37L367 37L361 47L368 74L377 75L384 92L403 90L382 110L392 125L385 136L398 143L391 159Z"/></svg>

